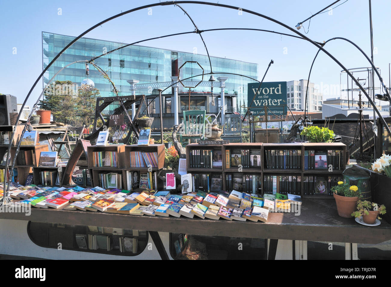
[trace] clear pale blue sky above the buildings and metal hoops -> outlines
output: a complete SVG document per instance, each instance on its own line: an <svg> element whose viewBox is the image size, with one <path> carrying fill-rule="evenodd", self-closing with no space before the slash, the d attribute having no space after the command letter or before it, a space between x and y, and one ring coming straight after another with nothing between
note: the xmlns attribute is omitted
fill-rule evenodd
<svg viewBox="0 0 391 287"><path fill-rule="evenodd" d="M0 45L0 66L2 67L0 92L12 94L18 98L18 103L23 102L42 71L41 31L78 36L96 23L121 11L156 2L156 0L111 0L109 2L101 0L52 2L3 0L0 11L2 19L0 23L2 43ZM240 6L265 14L290 27L294 27L298 22L308 18L311 13L316 13L332 2L331 0L219 1L219 3ZM344 0L339 3L342 2ZM241 27L293 34L276 23L248 13L240 14L240 11L233 9L195 4L181 4L181 6L201 30ZM388 63L391 62L390 10L390 1L372 1L374 62L380 67L387 86L389 85ZM368 11L368 0L348 0L332 12L328 11L312 18L306 36L318 42L333 37L345 37L357 43L364 52L370 55ZM303 25L307 31L308 21ZM131 43L145 38L193 30L192 23L183 11L178 7L168 5L153 7L152 11L143 9L111 20L102 27L89 32L85 37ZM304 33L304 30L301 29L300 32ZM307 79L310 65L317 52L317 48L305 40L266 32L216 31L205 32L203 37L212 56L258 63L258 78L262 78L267 64L273 59L274 64L269 69L265 81ZM185 52L193 52L196 47L199 54L206 53L197 34L153 40L145 42L144 45ZM364 56L349 43L334 40L329 42L325 49L347 68L369 67ZM340 83L341 70L339 65L321 53L314 65L310 80L316 84L322 84L323 87L329 85L335 88L335 85ZM346 79L343 83L346 84ZM378 86L378 81L375 83ZM35 102L41 88L42 80L40 79L27 102L29 105ZM335 96L335 93L325 92L324 98L332 96Z"/></svg>

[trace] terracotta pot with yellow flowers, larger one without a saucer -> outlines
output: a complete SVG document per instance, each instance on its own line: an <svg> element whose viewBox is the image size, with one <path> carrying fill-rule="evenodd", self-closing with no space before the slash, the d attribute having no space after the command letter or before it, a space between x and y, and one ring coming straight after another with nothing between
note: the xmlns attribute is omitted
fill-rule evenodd
<svg viewBox="0 0 391 287"><path fill-rule="evenodd" d="M352 213L356 210L357 200L359 200L360 192L357 186L350 186L343 181L339 181L338 185L331 188L337 211L340 217L353 217Z"/></svg>

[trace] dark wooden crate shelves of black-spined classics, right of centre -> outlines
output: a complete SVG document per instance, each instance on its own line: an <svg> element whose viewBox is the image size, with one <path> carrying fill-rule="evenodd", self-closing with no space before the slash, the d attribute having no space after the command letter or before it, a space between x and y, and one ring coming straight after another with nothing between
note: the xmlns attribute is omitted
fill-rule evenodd
<svg viewBox="0 0 391 287"><path fill-rule="evenodd" d="M332 186L343 180L347 161L343 143L188 144L186 156L187 172L199 179L196 186L204 192L303 198L330 198Z"/></svg>

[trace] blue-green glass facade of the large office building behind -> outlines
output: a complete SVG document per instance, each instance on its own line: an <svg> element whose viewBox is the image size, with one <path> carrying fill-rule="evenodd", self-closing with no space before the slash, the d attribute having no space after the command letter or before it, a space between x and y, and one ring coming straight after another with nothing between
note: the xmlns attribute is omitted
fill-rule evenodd
<svg viewBox="0 0 391 287"><path fill-rule="evenodd" d="M43 68L60 52L63 47L70 43L75 37L42 32L42 56ZM61 67L78 60L90 60L94 56L99 56L108 51L116 49L126 43L109 42L90 38L81 38L68 48L57 61L47 70L43 78L43 87L58 72ZM208 56L186 52L170 51L152 47L132 45L119 49L111 54L104 55L94 62L105 70L115 83L120 96L130 93L128 80L138 80L139 84L170 82L171 76L177 76L178 68L185 61L197 61L204 69L204 73L210 72ZM216 74L214 77L228 77L224 92L226 95L237 95L236 106L247 103L247 83L255 82L252 79L231 74L218 74L218 72L230 72L243 74L257 79L257 64L247 63L226 58L211 57L212 69ZM180 77L187 78L197 74L202 74L202 69L194 63L187 63L180 69ZM84 63L73 64L56 77L56 80L69 80L80 85L85 74ZM95 83L95 88L99 89L100 96L115 96L113 88L107 79L90 64L90 79ZM209 76L204 76L204 81L208 81ZM201 77L194 78L194 81L201 80ZM221 92L219 83L214 83L214 93ZM179 92L186 92L188 89L179 85ZM210 92L210 87L196 87L192 92ZM151 94L152 89L140 89L136 94ZM171 94L167 89L164 94ZM169 104L170 105L170 104ZM191 105L191 103L190 103ZM234 104L235 105L235 104Z"/></svg>

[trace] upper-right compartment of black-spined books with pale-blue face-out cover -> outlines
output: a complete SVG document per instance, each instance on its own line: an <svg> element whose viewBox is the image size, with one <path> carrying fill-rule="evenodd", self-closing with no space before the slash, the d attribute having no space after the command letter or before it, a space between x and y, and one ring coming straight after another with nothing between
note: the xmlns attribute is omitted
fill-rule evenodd
<svg viewBox="0 0 391 287"><path fill-rule="evenodd" d="M331 165L331 166L330 166ZM344 170L343 150L305 150L304 169L305 170Z"/></svg>

